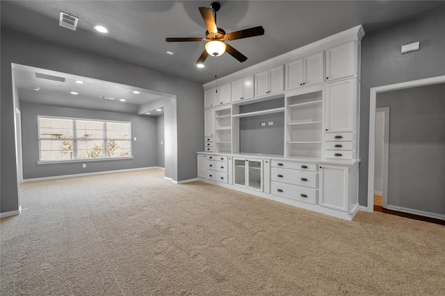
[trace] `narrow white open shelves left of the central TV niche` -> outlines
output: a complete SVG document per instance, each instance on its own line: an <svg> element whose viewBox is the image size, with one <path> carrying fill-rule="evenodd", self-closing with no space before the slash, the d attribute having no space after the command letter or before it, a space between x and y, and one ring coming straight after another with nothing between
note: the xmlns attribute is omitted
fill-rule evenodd
<svg viewBox="0 0 445 296"><path fill-rule="evenodd" d="M232 153L232 106L215 108L215 146L217 153Z"/></svg>

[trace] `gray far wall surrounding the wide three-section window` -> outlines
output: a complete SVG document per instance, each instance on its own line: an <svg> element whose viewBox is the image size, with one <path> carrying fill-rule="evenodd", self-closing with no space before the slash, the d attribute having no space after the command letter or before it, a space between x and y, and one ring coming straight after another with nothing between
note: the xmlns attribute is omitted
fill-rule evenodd
<svg viewBox="0 0 445 296"><path fill-rule="evenodd" d="M58 175L73 175L100 171L115 171L129 168L145 168L157 166L156 119L135 114L103 112L97 110L54 107L49 105L33 105L22 103L22 145L23 145L23 175L24 179L50 177ZM70 162L63 164L37 164L38 128L37 116L65 116L81 119L101 119L131 122L131 152L133 159L106 160L97 162Z"/></svg>

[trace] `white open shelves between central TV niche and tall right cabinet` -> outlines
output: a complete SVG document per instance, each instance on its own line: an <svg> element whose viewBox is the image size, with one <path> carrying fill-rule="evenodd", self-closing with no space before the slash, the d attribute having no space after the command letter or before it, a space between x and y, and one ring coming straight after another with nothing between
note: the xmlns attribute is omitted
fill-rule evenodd
<svg viewBox="0 0 445 296"><path fill-rule="evenodd" d="M324 87L286 94L285 157L322 158Z"/></svg>

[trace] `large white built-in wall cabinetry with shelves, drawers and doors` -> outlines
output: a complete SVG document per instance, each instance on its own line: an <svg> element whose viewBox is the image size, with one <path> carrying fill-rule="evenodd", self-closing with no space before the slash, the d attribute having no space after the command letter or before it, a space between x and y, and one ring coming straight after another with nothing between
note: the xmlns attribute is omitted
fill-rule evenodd
<svg viewBox="0 0 445 296"><path fill-rule="evenodd" d="M357 26L204 85L198 180L352 219L359 207L363 35ZM276 99L284 107L269 104ZM284 119L282 154L243 152L241 120L261 123L269 114Z"/></svg>

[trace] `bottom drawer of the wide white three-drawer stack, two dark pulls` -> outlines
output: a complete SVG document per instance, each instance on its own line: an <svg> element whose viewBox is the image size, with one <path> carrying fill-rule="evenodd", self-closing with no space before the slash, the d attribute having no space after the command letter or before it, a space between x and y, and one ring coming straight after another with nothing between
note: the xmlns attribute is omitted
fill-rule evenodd
<svg viewBox="0 0 445 296"><path fill-rule="evenodd" d="M316 204L317 202L318 191L316 189L271 182L270 191L273 195L289 198L291 200L298 200L299 202L307 202L309 204Z"/></svg>

